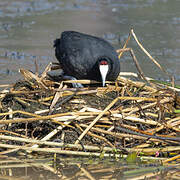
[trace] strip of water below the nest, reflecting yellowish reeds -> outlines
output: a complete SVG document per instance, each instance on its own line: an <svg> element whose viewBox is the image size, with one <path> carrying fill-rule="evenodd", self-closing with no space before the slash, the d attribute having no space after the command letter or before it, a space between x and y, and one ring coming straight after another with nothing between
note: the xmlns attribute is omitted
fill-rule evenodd
<svg viewBox="0 0 180 180"><path fill-rule="evenodd" d="M160 164L127 164L100 159L30 160L9 158L0 161L0 179L179 179L178 167Z"/></svg>

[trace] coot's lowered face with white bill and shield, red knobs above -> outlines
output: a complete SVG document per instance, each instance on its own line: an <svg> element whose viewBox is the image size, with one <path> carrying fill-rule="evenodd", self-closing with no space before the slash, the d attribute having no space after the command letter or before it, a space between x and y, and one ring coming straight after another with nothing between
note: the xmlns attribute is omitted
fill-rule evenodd
<svg viewBox="0 0 180 180"><path fill-rule="evenodd" d="M106 57L99 58L99 71L101 74L103 87L105 86L105 81L106 81L107 74L110 70L110 66L111 66L111 63L108 58Z"/></svg>

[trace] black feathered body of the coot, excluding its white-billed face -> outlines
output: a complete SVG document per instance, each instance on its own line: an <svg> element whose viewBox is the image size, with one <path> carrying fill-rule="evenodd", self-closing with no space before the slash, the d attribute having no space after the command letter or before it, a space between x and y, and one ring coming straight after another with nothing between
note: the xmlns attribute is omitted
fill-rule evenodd
<svg viewBox="0 0 180 180"><path fill-rule="evenodd" d="M99 63L108 63L106 80L116 80L120 72L120 62L114 48L102 38L64 31L60 39L54 41L55 55L66 75L77 79L101 81Z"/></svg>

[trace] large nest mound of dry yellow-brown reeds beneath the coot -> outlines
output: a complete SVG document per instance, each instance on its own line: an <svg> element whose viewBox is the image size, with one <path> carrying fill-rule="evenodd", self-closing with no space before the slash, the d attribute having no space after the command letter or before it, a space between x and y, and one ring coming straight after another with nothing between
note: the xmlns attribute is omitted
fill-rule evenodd
<svg viewBox="0 0 180 180"><path fill-rule="evenodd" d="M106 87L90 80L54 81L47 75L58 68L52 63L41 74L21 69L23 80L1 85L0 154L121 157L135 152L178 161L180 89L145 77L130 53L139 76L121 73ZM72 88L72 82L84 88Z"/></svg>

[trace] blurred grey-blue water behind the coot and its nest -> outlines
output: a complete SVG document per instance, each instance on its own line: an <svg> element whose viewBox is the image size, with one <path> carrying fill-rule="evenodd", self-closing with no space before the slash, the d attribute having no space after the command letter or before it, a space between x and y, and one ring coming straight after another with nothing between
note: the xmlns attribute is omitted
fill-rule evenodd
<svg viewBox="0 0 180 180"><path fill-rule="evenodd" d="M149 53L180 82L179 0L0 0L0 84L21 78L19 68L42 72L57 62L53 41L64 30L75 30L122 47L133 28ZM146 76L168 77L131 39ZM121 71L137 72L129 53L121 58Z"/></svg>

